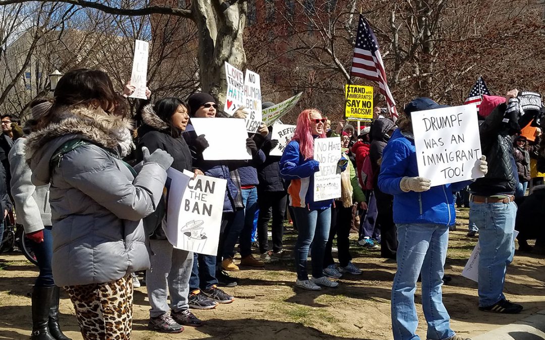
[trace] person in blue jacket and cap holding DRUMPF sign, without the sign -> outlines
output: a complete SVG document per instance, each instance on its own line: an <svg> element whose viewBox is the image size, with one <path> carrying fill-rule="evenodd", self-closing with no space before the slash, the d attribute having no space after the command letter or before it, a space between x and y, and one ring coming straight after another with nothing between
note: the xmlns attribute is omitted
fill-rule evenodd
<svg viewBox="0 0 545 340"><path fill-rule="evenodd" d="M393 195L393 220L397 226L397 272L392 287L392 331L395 340L420 339L414 304L416 280L422 274L422 307L429 340L467 340L450 328L450 316L443 305L444 264L449 226L455 224L453 193L467 181L431 187L419 177L411 113L441 106L429 98L416 98L405 107L407 120L393 133L384 149L378 177L380 190ZM475 166L486 174L485 160Z"/></svg>

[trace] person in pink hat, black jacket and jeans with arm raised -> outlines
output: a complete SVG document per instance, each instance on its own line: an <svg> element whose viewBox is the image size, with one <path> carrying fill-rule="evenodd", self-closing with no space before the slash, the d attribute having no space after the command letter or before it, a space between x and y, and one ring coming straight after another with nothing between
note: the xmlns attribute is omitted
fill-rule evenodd
<svg viewBox="0 0 545 340"><path fill-rule="evenodd" d="M503 294L507 265L514 255L514 221L517 205L514 192L518 185L513 158L512 137L524 127L530 114L521 107L518 90L506 97L483 96L479 115L482 154L490 171L470 185L470 216L479 227L479 309L516 314L523 310ZM541 102L541 100L539 100ZM533 117L532 117L533 118Z"/></svg>

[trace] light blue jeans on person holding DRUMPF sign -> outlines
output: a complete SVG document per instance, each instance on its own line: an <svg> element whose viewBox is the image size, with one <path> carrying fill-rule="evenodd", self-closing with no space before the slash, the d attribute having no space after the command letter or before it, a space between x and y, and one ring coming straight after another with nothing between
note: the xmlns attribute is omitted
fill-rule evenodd
<svg viewBox="0 0 545 340"><path fill-rule="evenodd" d="M443 274L449 227L439 224L397 225L397 272L392 287L392 331L395 340L419 340L414 304L416 280L422 274L422 309L428 324L426 338L447 339L455 335L443 305Z"/></svg>

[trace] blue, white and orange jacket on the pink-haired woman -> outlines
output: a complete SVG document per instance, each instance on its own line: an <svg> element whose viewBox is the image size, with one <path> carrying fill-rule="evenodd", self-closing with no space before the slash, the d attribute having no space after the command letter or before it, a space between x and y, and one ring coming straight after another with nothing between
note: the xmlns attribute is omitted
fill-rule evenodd
<svg viewBox="0 0 545 340"><path fill-rule="evenodd" d="M339 154L339 159L346 159ZM314 202L314 170L309 164L310 159L305 160L299 151L299 142L292 140L284 149L280 158L280 176L289 180L288 195L289 205L293 207L308 208L310 210L326 209L331 207L333 200ZM344 171L346 165L341 167Z"/></svg>

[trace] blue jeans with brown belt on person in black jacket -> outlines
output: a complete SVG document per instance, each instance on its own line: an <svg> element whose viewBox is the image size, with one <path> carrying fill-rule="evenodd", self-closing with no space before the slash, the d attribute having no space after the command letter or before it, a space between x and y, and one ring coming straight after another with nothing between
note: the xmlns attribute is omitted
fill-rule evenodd
<svg viewBox="0 0 545 340"><path fill-rule="evenodd" d="M505 299L505 271L513 261L514 220L517 205L471 202L471 215L479 226L479 306L488 307Z"/></svg>

